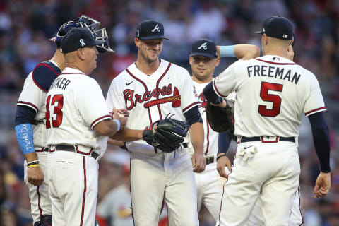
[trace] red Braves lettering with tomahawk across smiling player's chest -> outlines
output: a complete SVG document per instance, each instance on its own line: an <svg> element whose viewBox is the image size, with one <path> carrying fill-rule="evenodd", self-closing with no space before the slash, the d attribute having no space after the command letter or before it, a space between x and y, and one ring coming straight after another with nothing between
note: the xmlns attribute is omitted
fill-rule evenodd
<svg viewBox="0 0 339 226"><path fill-rule="evenodd" d="M152 97L158 98L165 95L171 95L169 97L163 97L157 100L150 100ZM134 90L124 90L124 98L126 103L126 109L131 110L133 107L136 107L137 102L145 104L143 105L145 108L152 107L158 104L164 104L166 102L173 102L172 107L180 107L181 106L181 96L179 94L179 90L177 88L172 89L172 84L168 86L164 85L161 89L155 88L150 91L146 91L143 95L134 94Z"/></svg>

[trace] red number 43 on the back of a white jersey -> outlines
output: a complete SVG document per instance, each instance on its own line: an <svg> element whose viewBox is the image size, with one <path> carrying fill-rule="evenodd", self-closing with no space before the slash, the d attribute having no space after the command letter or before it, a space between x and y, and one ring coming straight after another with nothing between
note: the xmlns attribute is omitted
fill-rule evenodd
<svg viewBox="0 0 339 226"><path fill-rule="evenodd" d="M55 105L55 102L58 103L58 105ZM49 105L50 104L50 105ZM49 112L49 106L53 107L53 115L51 117L51 113ZM51 95L47 97L46 100L46 128L51 128L51 121L53 127L59 127L62 123L62 107L64 106L64 97L61 94L54 95L52 97L51 102ZM56 116L56 117L55 117Z"/></svg>

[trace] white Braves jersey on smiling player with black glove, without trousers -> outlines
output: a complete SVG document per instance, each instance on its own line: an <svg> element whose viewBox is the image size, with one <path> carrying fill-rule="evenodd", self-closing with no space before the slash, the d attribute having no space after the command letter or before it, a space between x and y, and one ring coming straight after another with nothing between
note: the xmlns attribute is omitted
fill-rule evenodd
<svg viewBox="0 0 339 226"><path fill-rule="evenodd" d="M152 76L140 71L136 64L131 64L114 78L106 100L109 109L128 109L130 114L126 127L141 130L157 120L165 119L167 114L174 114L173 119L186 121L183 113L199 105L193 95L193 83L188 71L163 59ZM187 138L184 142L187 143ZM127 142L126 147L144 153L156 151L141 140Z"/></svg>

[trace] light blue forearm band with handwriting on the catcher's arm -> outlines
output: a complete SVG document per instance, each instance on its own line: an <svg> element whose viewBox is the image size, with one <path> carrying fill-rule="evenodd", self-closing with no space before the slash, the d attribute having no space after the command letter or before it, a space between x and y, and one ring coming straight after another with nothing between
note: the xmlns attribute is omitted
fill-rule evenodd
<svg viewBox="0 0 339 226"><path fill-rule="evenodd" d="M16 126L16 140L23 155L34 152L32 124L25 123Z"/></svg>

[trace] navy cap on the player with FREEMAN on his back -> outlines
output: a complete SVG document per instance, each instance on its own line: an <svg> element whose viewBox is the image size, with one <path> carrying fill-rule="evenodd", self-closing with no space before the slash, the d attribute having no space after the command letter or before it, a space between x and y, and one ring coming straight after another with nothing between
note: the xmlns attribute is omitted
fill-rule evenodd
<svg viewBox="0 0 339 226"><path fill-rule="evenodd" d="M266 34L280 40L292 40L293 25L290 20L283 16L272 16L263 21L263 29L257 34Z"/></svg>

